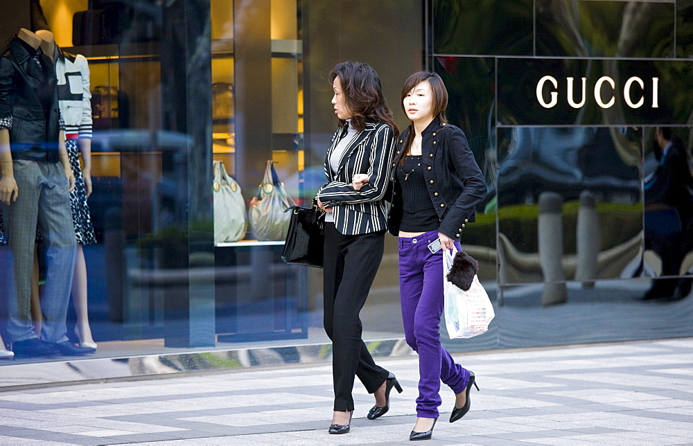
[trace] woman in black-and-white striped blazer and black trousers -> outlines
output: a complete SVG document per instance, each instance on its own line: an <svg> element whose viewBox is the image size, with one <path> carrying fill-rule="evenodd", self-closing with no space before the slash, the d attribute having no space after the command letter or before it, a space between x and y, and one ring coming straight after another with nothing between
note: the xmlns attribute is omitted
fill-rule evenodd
<svg viewBox="0 0 693 446"><path fill-rule="evenodd" d="M325 158L327 184L317 193L325 213L324 324L333 343L335 405L330 434L347 434L354 376L376 397L371 420L389 409L389 391L401 386L376 365L361 339L359 312L383 258L385 189L398 134L374 69L342 62L330 72L332 104L340 120ZM354 175L369 184L354 190Z"/></svg>

